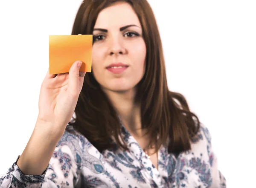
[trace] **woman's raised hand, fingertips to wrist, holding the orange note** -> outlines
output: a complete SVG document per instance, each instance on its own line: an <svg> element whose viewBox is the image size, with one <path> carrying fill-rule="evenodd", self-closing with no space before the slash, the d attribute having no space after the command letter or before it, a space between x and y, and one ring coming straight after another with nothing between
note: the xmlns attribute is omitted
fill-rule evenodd
<svg viewBox="0 0 256 188"><path fill-rule="evenodd" d="M63 135L84 83L86 72L79 72L81 64L81 61L76 61L68 73L56 76L50 75L48 70L39 95L37 124L44 124L44 127L40 127L41 130L43 128L59 133L59 136Z"/></svg>

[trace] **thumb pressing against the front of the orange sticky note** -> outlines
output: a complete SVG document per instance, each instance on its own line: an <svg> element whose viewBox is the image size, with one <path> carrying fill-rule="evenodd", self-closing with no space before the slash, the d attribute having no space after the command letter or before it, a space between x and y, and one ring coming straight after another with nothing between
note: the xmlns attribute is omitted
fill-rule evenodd
<svg viewBox="0 0 256 188"><path fill-rule="evenodd" d="M85 72L79 72L81 65L81 61L76 61L70 67L69 71L68 89L74 96L78 96L80 94L84 82Z"/></svg>

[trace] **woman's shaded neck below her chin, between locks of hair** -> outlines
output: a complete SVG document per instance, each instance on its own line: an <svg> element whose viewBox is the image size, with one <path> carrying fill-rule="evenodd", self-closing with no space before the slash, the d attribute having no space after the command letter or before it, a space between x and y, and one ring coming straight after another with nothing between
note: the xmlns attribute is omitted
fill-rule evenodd
<svg viewBox="0 0 256 188"><path fill-rule="evenodd" d="M125 128L136 137L142 136L140 104L134 102L136 90L132 89L125 92L104 91L119 114Z"/></svg>

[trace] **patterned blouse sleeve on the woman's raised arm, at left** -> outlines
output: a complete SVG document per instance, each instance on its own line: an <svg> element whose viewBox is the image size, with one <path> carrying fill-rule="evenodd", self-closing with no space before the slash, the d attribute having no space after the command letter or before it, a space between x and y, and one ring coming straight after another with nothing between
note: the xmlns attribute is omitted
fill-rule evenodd
<svg viewBox="0 0 256 188"><path fill-rule="evenodd" d="M62 138L50 159L47 169L41 175L24 175L17 161L0 178L0 188L74 188L79 187L80 166L78 154L73 153L72 142ZM67 140L65 140L67 141ZM76 159L75 159L76 156Z"/></svg>

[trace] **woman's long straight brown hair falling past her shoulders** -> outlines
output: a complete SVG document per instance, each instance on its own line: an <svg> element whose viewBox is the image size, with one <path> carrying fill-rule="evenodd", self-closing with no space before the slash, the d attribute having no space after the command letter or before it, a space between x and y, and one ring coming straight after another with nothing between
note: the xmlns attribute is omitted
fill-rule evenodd
<svg viewBox="0 0 256 188"><path fill-rule="evenodd" d="M116 2L129 3L143 29L147 49L145 74L137 85L135 101L141 107L142 128L151 136L148 147L154 145L157 151L161 145L166 145L169 153L190 150L190 140L198 133L200 123L190 112L185 97L168 89L162 42L147 0L84 0L76 14L72 35L92 35L99 12ZM93 70L85 75L75 114L75 121L69 124L100 152L113 146L112 138L120 148L127 150L119 136L120 119L94 78Z"/></svg>

